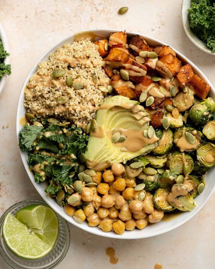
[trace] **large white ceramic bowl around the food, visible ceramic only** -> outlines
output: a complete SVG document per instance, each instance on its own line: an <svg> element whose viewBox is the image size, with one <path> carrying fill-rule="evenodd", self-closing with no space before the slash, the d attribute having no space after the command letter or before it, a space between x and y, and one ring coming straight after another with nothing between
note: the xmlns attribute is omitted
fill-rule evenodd
<svg viewBox="0 0 215 269"><path fill-rule="evenodd" d="M90 30L90 31L94 32L97 35L103 35L106 38L108 38L112 32L117 32L119 30L115 30L115 29L94 29L94 30ZM131 37L131 36L133 36L135 34L137 34L137 33L127 32L127 35L129 37ZM161 41L159 41L157 39L150 38L150 37L147 37L145 35L142 35L142 36L146 39L147 43L149 45L151 45L151 46L166 45L165 43L163 43L163 42L161 42ZM35 65L31 69L29 75L27 76L27 78L26 78L26 80L24 82L24 85L23 85L21 93L20 93L19 101L18 101L17 118L16 118L17 138L18 138L19 131L22 128L22 126L20 125L20 118L22 116L24 116L25 112L26 112L25 108L23 106L24 88L25 88L27 82L29 81L30 76L33 75L37 71L37 64L39 62L47 60L49 55L51 53L55 52L59 47L63 46L66 43L72 43L73 41L74 41L74 35L71 35L70 37L67 37L64 40L60 41L58 44L55 44L51 49L46 51L46 53L44 53L41 56L41 58L39 58L37 63L35 63ZM187 58L185 58L185 56L183 56L176 49L174 49L174 50L177 53L177 57L180 58L183 61L183 63L190 63L190 65L193 68L194 73L196 73L198 76L200 76L205 82L207 82L211 86L210 96L215 98L214 87L211 85L211 83L209 82L207 77L202 73L202 71L200 71L200 69L197 68L197 66L195 66L191 61L189 61ZM120 238L120 239L138 239L138 238L152 237L152 236L155 236L155 235L158 235L158 234L163 234L165 232L171 231L171 230L175 229L176 227L182 225L186 221L190 220L190 218L192 218L197 212L199 212L200 209L204 206L204 204L207 202L207 200L209 199L209 197L211 196L211 194L213 193L213 191L215 189L215 181L214 181L214 175L213 175L214 169L209 169L209 172L207 173L207 176L206 176L206 187L204 189L204 192L202 192L201 195L199 195L199 196L197 196L195 198L196 207L193 209L193 211L191 211L191 212L183 212L182 214L180 214L178 216L178 218L176 218L174 220L171 220L169 222L160 221L159 223L155 223L154 225L148 225L143 230L135 229L133 231L125 231L124 234L120 236L120 235L116 234L115 232L103 232L98 227L89 227L87 222L79 224L72 217L68 216L64 212L63 208L60 208L56 204L56 201L54 199L51 199L44 192L44 189L46 189L46 187L47 187L47 185L46 185L47 183L45 183L45 182L43 182L43 183L34 182L34 175L32 174L32 172L30 172L29 166L28 166L28 154L27 154L27 152L23 152L23 151L20 150L20 155L21 155L22 162L23 162L23 164L25 166L25 169L27 171L27 174L30 177L30 180L31 180L32 184L37 189L37 191L42 196L42 198L49 204L49 206L51 206L59 215L61 215L68 222L74 224L75 226L77 226L77 227L79 227L79 228L81 228L81 229L83 229L85 231L91 232L93 234L97 234L97 235L101 235L101 236L105 236L105 237Z"/></svg>

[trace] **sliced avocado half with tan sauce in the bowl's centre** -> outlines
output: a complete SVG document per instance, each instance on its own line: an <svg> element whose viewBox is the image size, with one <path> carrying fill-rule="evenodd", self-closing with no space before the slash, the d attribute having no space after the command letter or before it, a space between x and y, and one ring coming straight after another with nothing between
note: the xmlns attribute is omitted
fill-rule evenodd
<svg viewBox="0 0 215 269"><path fill-rule="evenodd" d="M110 163L126 163L147 154L157 146L158 137L143 135L148 130L150 117L138 101L116 95L108 98L96 113L96 132L90 132L85 151L86 165L94 170L104 170ZM124 142L113 142L112 135L119 132ZM127 150L127 151L125 151ZM108 161L108 163L107 163Z"/></svg>

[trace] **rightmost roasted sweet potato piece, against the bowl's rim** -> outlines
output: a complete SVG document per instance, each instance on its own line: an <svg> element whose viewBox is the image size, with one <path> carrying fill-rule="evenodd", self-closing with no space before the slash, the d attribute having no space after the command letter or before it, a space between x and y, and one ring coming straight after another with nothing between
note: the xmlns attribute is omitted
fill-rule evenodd
<svg viewBox="0 0 215 269"><path fill-rule="evenodd" d="M194 75L191 78L190 85L193 86L195 94L199 96L201 99L205 99L211 89L211 87L197 75Z"/></svg>

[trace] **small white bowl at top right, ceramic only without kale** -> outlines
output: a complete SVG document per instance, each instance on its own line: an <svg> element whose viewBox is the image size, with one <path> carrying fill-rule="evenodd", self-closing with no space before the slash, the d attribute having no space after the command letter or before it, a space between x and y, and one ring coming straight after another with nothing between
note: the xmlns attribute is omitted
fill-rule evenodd
<svg viewBox="0 0 215 269"><path fill-rule="evenodd" d="M181 19L184 31L190 41L193 42L193 44L196 45L199 49L207 52L208 54L215 55L215 53L212 53L212 50L207 46L207 44L202 42L202 40L200 40L197 35L193 33L192 29L190 29L190 18L189 12L187 11L188 8L190 8L190 2L190 0L183 0L181 4Z"/></svg>

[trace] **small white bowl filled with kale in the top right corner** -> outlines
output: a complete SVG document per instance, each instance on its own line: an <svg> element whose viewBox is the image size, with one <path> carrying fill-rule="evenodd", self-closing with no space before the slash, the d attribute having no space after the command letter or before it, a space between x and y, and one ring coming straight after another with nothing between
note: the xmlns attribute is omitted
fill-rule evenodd
<svg viewBox="0 0 215 269"><path fill-rule="evenodd" d="M199 49L215 55L215 2L183 0L182 23L186 35Z"/></svg>

